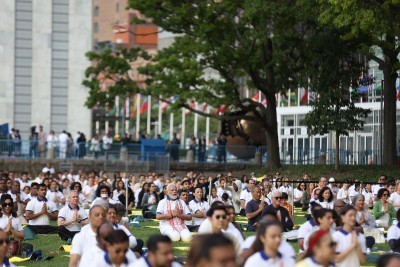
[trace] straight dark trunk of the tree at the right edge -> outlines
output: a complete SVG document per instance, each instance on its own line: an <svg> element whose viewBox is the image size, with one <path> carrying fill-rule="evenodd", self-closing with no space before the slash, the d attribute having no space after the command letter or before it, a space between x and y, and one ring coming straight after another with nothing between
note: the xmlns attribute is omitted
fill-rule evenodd
<svg viewBox="0 0 400 267"><path fill-rule="evenodd" d="M397 163L396 150L396 78L390 63L383 69L383 165L395 166Z"/></svg>

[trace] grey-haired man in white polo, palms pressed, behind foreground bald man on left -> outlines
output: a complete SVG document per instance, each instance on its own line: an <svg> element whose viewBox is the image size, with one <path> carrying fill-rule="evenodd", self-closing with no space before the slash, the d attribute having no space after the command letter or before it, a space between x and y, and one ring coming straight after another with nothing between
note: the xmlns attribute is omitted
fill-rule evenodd
<svg viewBox="0 0 400 267"><path fill-rule="evenodd" d="M58 234L63 240L72 240L75 234L81 231L82 226L89 223L86 212L78 206L78 202L78 191L71 191L68 196L69 204L65 205L58 213Z"/></svg>

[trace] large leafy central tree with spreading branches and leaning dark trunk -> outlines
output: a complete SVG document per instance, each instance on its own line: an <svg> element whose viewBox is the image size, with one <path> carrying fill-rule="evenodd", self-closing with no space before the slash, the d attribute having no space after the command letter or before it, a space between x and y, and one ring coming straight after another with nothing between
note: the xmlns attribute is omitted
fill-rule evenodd
<svg viewBox="0 0 400 267"><path fill-rule="evenodd" d="M279 167L276 94L307 81L301 76L302 52L312 6L304 1L132 0L166 31L179 35L143 71L147 90L179 95L174 105L189 108L188 99L229 108L218 119L246 119L266 131L269 167ZM313 26L314 24L312 24ZM206 75L207 71L215 73ZM267 106L246 98L245 86L260 92ZM204 116L204 112L195 111Z"/></svg>

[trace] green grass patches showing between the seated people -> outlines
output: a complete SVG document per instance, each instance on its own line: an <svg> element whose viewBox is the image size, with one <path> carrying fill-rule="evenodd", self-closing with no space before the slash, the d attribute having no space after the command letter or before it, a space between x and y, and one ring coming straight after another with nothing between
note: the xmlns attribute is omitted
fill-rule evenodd
<svg viewBox="0 0 400 267"><path fill-rule="evenodd" d="M140 211L134 211L134 213L139 214ZM295 211L294 217L293 217L295 225L301 225L305 221L304 217L304 212L301 212L300 210ZM245 217L238 216L237 221L239 223L245 224L247 222ZM132 233L140 239L143 239L146 241L149 236L153 234L158 234L158 222L155 220L150 220L147 222L143 223L142 227L131 227L130 230ZM251 235L251 233L245 233L246 236ZM64 241L61 241L60 238L57 235L37 235L35 240L30 240L28 241L34 246L34 249L40 249L42 250L43 256L54 256L54 258L50 261L26 261L26 262L20 262L20 263L15 263L17 266L49 266L49 267L61 267L61 266L67 266L68 265L68 260L69 260L69 253L66 253L64 251L60 251L59 247L61 245L65 245ZM297 243L290 243L295 251L298 250ZM185 243L185 242L175 242L174 243L174 251L176 256L182 256L186 255L187 251L189 250L190 243ZM382 244L382 245L376 245L380 251L387 251L388 245L387 244ZM376 260L379 257L378 252L371 253L368 255L369 262L364 265L364 266L375 266L374 265L374 260Z"/></svg>

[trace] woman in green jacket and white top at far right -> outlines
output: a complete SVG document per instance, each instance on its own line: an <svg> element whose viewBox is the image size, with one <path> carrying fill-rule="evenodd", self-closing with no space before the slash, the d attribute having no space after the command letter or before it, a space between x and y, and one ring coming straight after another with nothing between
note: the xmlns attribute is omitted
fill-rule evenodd
<svg viewBox="0 0 400 267"><path fill-rule="evenodd" d="M381 188L378 191L378 201L374 204L373 214L378 227L389 227L396 218L396 209L388 202L389 190Z"/></svg>

